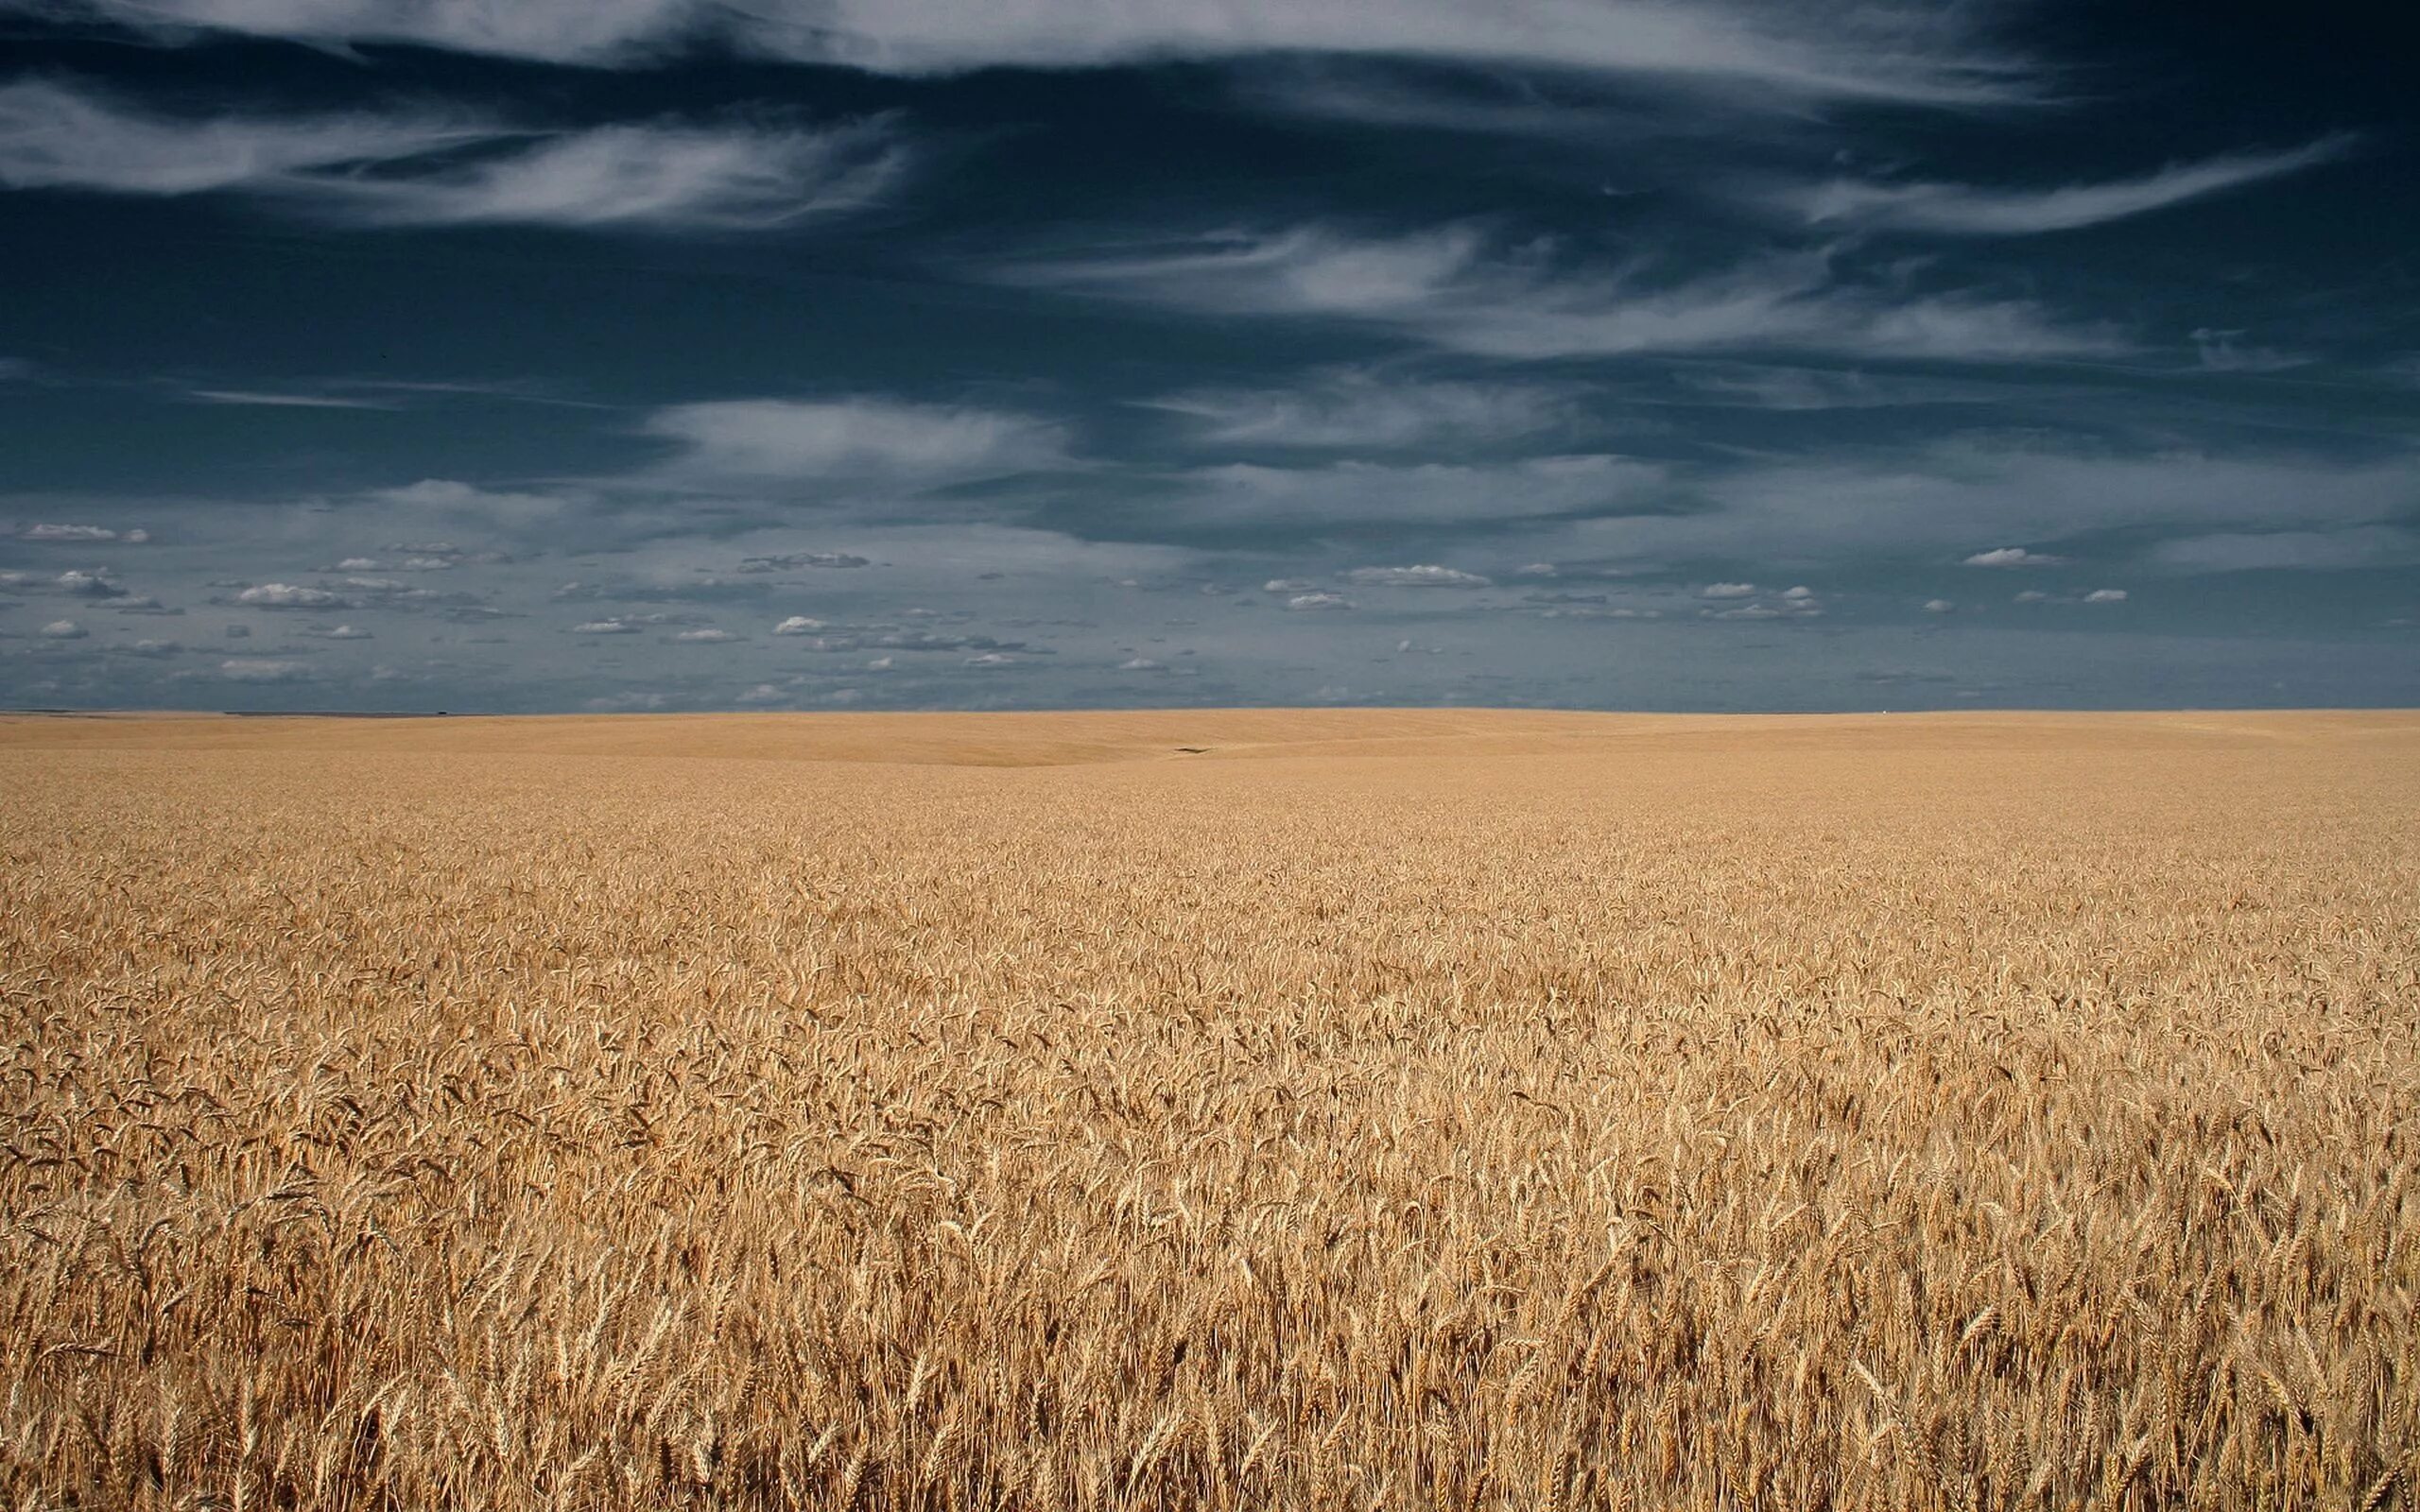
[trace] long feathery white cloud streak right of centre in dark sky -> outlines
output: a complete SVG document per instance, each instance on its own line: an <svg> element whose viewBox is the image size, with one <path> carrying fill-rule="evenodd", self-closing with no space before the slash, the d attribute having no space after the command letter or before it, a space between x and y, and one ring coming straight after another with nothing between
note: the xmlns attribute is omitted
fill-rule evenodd
<svg viewBox="0 0 2420 1512"><path fill-rule="evenodd" d="M1655 283L1571 271L1551 244L1496 247L1476 225L1360 237L1307 225L1135 252L995 264L987 276L1229 317L1375 324L1486 358L1827 351L1876 358L2110 356L2108 327L2059 324L2028 300L1842 283L1822 252L1759 256Z"/></svg>

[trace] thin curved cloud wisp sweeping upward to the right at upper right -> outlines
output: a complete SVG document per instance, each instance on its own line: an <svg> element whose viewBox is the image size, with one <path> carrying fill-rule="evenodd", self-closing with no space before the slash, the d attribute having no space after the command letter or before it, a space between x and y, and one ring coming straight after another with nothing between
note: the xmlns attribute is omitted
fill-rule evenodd
<svg viewBox="0 0 2420 1512"><path fill-rule="evenodd" d="M2059 189L1972 189L1965 184L1866 184L1832 179L1784 189L1769 203L1808 225L1856 225L1951 237L2028 237L2079 230L2163 210L2209 194L2294 174L2352 150L2355 138L2326 135L2287 152L2236 152L2171 165L2139 179Z"/></svg>

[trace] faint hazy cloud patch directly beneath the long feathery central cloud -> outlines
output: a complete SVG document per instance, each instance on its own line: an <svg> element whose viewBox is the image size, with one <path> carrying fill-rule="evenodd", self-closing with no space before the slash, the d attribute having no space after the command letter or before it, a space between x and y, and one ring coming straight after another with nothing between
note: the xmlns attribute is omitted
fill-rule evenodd
<svg viewBox="0 0 2420 1512"><path fill-rule="evenodd" d="M1195 389L1147 406L1193 421L1195 440L1268 448L1510 440L1551 431L1573 411L1563 387L1389 380L1367 368L1333 368L1295 387Z"/></svg>

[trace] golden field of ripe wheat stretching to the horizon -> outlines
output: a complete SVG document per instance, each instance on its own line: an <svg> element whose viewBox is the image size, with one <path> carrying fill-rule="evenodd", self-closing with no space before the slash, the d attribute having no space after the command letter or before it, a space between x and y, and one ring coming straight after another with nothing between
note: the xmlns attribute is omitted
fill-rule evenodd
<svg viewBox="0 0 2420 1512"><path fill-rule="evenodd" d="M2420 1505L2420 716L7 721L0 810L10 1507Z"/></svg>

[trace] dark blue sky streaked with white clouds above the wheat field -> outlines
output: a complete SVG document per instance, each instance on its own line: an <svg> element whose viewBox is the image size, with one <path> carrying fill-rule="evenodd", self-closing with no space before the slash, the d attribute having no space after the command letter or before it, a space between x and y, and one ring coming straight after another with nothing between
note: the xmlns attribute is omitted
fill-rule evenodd
<svg viewBox="0 0 2420 1512"><path fill-rule="evenodd" d="M0 0L0 706L2420 704L2391 10Z"/></svg>

